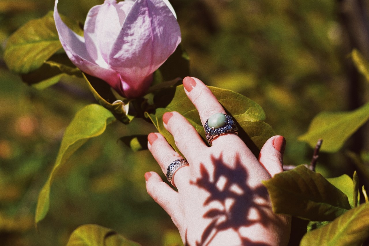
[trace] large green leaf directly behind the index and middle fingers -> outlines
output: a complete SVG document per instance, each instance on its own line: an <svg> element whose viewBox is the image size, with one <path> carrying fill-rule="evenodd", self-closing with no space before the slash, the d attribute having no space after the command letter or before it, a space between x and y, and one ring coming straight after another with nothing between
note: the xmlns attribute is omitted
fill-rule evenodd
<svg viewBox="0 0 369 246"><path fill-rule="evenodd" d="M260 148L269 137L275 135L272 127L265 123L265 113L261 106L241 94L231 90L209 87L219 100L226 112L232 115L237 122L239 134L250 150L258 156ZM205 139L205 131L199 114L192 102L187 98L183 85L176 88L162 90L154 98L155 105L159 107L154 113L146 112L158 131L168 140L168 143L179 152L175 146L172 135L164 128L162 116L165 112L177 111L189 120L200 135Z"/></svg>

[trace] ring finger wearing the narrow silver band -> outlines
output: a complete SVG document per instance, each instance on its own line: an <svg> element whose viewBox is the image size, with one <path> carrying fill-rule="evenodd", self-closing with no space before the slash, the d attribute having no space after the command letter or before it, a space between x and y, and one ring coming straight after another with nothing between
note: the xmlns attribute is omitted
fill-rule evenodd
<svg viewBox="0 0 369 246"><path fill-rule="evenodd" d="M160 133L150 133L148 135L148 148L152 156L159 163L161 170L166 175L166 170L170 163L177 159L184 159L180 154L173 150L172 146L166 141L165 137ZM179 168L173 177L175 186L180 189L189 181L189 167Z"/></svg>

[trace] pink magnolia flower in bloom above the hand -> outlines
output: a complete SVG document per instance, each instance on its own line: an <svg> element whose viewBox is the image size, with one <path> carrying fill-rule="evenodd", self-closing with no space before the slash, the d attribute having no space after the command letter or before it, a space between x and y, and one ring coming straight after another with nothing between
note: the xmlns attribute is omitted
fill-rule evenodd
<svg viewBox="0 0 369 246"><path fill-rule="evenodd" d="M168 0L105 0L87 14L84 37L54 19L69 59L86 74L106 81L126 98L143 95L152 75L181 41Z"/></svg>

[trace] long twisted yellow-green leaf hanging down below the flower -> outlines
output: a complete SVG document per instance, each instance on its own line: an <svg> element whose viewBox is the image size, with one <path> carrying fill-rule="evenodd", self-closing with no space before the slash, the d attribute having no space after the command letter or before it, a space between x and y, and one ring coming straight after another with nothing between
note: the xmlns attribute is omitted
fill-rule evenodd
<svg viewBox="0 0 369 246"><path fill-rule="evenodd" d="M87 140L101 135L108 124L114 121L114 116L104 107L91 104L79 110L72 122L66 128L55 165L49 175L46 184L38 196L35 222L38 223L49 211L49 195L52 181L56 177L59 168L66 160Z"/></svg>

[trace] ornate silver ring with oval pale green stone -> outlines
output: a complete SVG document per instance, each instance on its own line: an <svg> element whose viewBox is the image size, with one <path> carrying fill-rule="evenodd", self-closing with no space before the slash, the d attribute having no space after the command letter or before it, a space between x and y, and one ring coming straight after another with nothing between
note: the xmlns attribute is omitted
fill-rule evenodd
<svg viewBox="0 0 369 246"><path fill-rule="evenodd" d="M223 113L216 113L210 116L204 124L204 130L206 140L209 144L211 144L213 139L227 132L234 132L238 134L238 128L232 119L232 116L225 115Z"/></svg>

